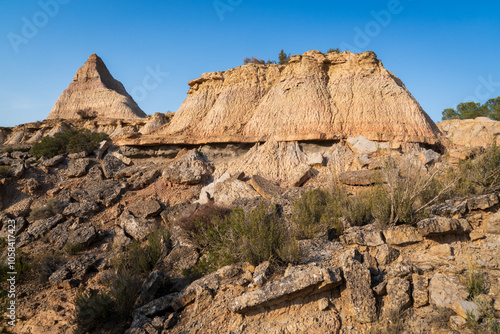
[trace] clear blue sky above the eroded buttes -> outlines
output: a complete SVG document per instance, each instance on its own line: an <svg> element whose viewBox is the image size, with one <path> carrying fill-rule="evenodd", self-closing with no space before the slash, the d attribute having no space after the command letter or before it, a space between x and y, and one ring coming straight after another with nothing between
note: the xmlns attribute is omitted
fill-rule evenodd
<svg viewBox="0 0 500 334"><path fill-rule="evenodd" d="M153 114L203 72L337 47L375 51L436 122L500 96L498 1L0 0L0 126L43 120L94 52Z"/></svg>

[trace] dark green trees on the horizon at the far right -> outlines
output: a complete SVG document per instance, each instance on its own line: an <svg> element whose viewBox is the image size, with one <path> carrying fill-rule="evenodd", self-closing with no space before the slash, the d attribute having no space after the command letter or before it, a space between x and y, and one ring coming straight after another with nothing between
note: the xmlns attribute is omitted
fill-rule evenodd
<svg viewBox="0 0 500 334"><path fill-rule="evenodd" d="M457 105L456 109L447 108L443 110L443 120L476 117L489 117L495 121L500 121L500 96L490 99L484 104L464 102Z"/></svg>

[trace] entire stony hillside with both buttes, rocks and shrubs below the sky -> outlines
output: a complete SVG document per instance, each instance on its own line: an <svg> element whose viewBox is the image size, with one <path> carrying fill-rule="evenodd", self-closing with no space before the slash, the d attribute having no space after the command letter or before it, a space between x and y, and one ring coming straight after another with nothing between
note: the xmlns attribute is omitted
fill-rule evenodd
<svg viewBox="0 0 500 334"><path fill-rule="evenodd" d="M93 55L61 113L0 128L17 272L0 328L500 332L498 122L438 128L371 52L190 86L175 114L140 118Z"/></svg>

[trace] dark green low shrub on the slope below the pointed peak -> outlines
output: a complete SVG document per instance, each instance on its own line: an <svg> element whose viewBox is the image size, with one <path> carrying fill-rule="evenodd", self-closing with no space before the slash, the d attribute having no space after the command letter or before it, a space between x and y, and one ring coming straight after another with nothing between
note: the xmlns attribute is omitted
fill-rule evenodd
<svg viewBox="0 0 500 334"><path fill-rule="evenodd" d="M99 147L99 143L108 140L105 133L91 132L90 130L66 130L56 133L54 136L43 137L42 140L30 150L35 158L42 156L52 158L63 153L78 153L85 151L92 153Z"/></svg>

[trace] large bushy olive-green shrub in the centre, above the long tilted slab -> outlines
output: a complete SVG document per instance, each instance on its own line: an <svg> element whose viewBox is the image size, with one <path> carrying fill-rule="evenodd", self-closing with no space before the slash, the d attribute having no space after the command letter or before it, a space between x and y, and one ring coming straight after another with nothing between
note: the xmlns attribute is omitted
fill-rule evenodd
<svg viewBox="0 0 500 334"><path fill-rule="evenodd" d="M205 252L198 268L192 270L197 274L240 261L296 263L300 256L298 243L285 229L283 219L274 207L263 203L248 214L235 208L228 217L216 217L208 224L198 220L196 225L197 241Z"/></svg>

